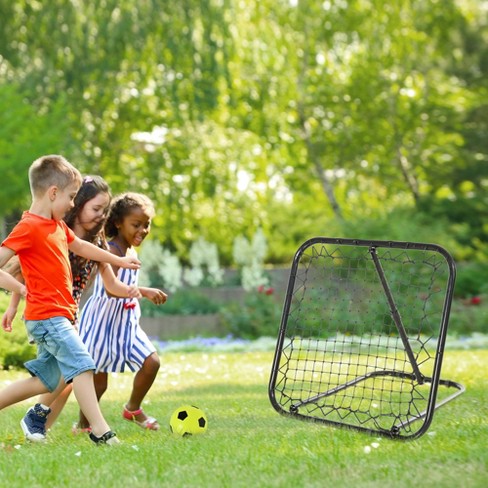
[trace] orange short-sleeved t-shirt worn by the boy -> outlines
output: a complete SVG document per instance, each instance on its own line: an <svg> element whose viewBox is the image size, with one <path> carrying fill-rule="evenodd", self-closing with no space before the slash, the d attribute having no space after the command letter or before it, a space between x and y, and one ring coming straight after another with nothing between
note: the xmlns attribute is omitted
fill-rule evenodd
<svg viewBox="0 0 488 488"><path fill-rule="evenodd" d="M76 303L68 244L75 234L63 222L24 212L2 246L17 254L27 288L24 318L74 320Z"/></svg>

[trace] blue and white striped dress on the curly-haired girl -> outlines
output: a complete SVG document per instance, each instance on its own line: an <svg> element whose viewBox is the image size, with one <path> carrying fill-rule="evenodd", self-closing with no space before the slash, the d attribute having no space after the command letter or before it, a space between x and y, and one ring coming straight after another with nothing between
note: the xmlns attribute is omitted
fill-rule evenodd
<svg viewBox="0 0 488 488"><path fill-rule="evenodd" d="M138 270L120 268L117 278L137 285ZM93 294L81 312L79 333L97 366L97 373L138 371L156 351L139 325L141 308L137 299L110 298L100 273Z"/></svg>

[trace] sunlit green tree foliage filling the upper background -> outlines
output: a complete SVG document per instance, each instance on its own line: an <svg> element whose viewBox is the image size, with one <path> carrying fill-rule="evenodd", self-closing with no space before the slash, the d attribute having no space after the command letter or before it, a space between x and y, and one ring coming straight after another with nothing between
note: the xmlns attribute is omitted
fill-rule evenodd
<svg viewBox="0 0 488 488"><path fill-rule="evenodd" d="M406 207L441 217L458 259L486 258L483 2L0 13L0 217L25 207L28 164L62 152L114 193L148 193L153 235L184 259L203 237L228 265L235 236L262 228L283 263L305 234Z"/></svg>

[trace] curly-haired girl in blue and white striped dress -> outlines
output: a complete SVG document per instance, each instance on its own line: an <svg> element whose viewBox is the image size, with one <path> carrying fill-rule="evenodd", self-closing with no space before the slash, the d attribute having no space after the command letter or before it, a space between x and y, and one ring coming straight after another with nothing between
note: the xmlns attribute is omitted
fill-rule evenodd
<svg viewBox="0 0 488 488"><path fill-rule="evenodd" d="M138 193L125 193L117 197L110 208L105 233L111 252L116 256L136 257L135 247L149 234L154 216L152 202ZM136 285L138 272L118 270L118 278ZM166 295L155 288L139 288L142 296L153 303L166 301ZM94 292L83 307L80 317L80 337L86 344L97 366L95 389L98 399L107 389L108 373L137 371L132 392L124 405L122 416L136 425L158 430L158 421L147 416L142 401L151 388L159 370L159 357L152 342L139 326L140 307L137 300L109 298L97 276ZM84 412L82 412L83 414ZM80 428L89 428L89 419L80 414ZM91 426L93 428L93 425Z"/></svg>

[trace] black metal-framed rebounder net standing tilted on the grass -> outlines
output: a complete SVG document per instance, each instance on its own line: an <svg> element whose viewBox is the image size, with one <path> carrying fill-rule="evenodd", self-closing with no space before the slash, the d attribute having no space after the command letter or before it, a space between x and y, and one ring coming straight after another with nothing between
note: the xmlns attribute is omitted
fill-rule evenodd
<svg viewBox="0 0 488 488"><path fill-rule="evenodd" d="M302 244L269 381L274 408L392 438L424 434L464 391L440 377L455 273L433 244Z"/></svg>

